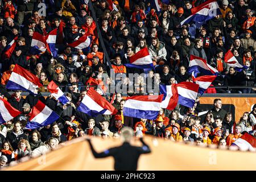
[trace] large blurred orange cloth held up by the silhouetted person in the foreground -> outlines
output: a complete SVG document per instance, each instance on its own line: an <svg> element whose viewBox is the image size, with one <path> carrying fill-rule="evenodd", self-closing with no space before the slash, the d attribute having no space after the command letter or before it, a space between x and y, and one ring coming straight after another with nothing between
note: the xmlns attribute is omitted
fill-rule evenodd
<svg viewBox="0 0 256 182"><path fill-rule="evenodd" d="M152 152L141 156L138 170L256 170L256 152L191 146L152 137L145 137L144 140ZM98 152L121 144L119 140L101 138L93 138L92 143ZM141 143L136 141L134 144ZM79 138L46 156L7 170L113 170L113 163L111 157L95 159L88 142Z"/></svg>

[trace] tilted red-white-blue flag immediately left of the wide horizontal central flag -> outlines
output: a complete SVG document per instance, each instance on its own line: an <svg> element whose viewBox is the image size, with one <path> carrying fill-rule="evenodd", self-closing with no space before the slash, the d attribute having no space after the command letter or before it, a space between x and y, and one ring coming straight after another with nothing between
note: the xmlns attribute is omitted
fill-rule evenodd
<svg viewBox="0 0 256 182"><path fill-rule="evenodd" d="M92 87L88 90L77 110L90 116L98 114L116 114L117 109Z"/></svg>

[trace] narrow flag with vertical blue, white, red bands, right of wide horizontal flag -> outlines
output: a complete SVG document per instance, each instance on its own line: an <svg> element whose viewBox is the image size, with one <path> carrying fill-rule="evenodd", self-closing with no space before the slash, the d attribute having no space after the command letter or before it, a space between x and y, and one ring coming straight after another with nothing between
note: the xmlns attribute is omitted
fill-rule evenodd
<svg viewBox="0 0 256 182"><path fill-rule="evenodd" d="M177 92L177 85L159 85L159 92L163 94L163 101L161 103L162 108L174 110L177 102L179 101L179 94Z"/></svg>

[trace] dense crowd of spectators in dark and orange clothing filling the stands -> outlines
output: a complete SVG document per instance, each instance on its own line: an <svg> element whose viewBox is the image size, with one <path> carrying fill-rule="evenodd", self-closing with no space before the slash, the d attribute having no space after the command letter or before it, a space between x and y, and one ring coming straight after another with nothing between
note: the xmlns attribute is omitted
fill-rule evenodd
<svg viewBox="0 0 256 182"><path fill-rule="evenodd" d="M243 131L255 135L256 105L245 112L239 121L221 108L221 100L214 100L213 109L204 118L197 116L200 100L193 108L182 107L184 115L175 110L160 109L152 121L146 118L132 118L123 115L125 97L139 94L158 94L143 86L149 84L171 85L192 81L188 73L189 56L195 55L207 60L218 70L212 86L249 86L248 88L213 88L212 93L255 93L256 24L254 0L218 1L221 15L210 19L196 32L189 31L191 24L180 23L191 15L191 9L205 1L172 0L168 5L160 3L162 11L152 8L148 1L115 0L118 11L110 11L106 0L91 1L96 17L82 0L21 0L2 1L0 16L0 92L11 106L22 111L18 117L0 125L0 165L4 166L23 156L38 156L56 146L77 137L93 135L102 138L119 137L124 126L134 129L137 137L145 134L175 141L190 141L206 144L230 145L241 137ZM45 3L46 14L42 14L40 3ZM97 31L100 30L99 32ZM51 52L32 55L31 42L34 32L47 36L57 28L57 57ZM99 40L99 34L102 40ZM90 36L90 49L76 49L68 44L81 36ZM16 46L9 53L9 44ZM104 44L100 44L103 42ZM102 47L106 48L106 52ZM144 73L143 69L128 68L129 57L147 47L155 70L131 79L129 73ZM224 55L231 50L241 65L242 71L226 65ZM111 65L105 59L108 54ZM9 92L5 86L15 64L36 75L42 87L34 95L22 96L22 90ZM104 77L113 69L116 79ZM118 77L118 75L120 77ZM110 75L108 75L110 76ZM69 102L61 104L48 94L47 85L54 81L63 89ZM117 92L106 96L112 83L119 87L131 86L131 92ZM89 115L77 110L86 94L86 87L100 85L97 92L108 101L114 100L118 110L115 115ZM251 87L250 87L251 86ZM130 91L130 90L129 90ZM11 94L10 94L11 93ZM112 98L113 97L113 98ZM59 116L55 123L37 130L27 130L32 107L42 101Z"/></svg>

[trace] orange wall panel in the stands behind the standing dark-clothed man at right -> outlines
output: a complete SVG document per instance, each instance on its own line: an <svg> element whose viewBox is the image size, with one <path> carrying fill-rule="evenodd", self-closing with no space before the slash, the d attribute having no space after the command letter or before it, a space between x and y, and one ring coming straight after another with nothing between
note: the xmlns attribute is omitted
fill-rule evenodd
<svg viewBox="0 0 256 182"><path fill-rule="evenodd" d="M201 97L200 104L212 104L216 98L221 98L223 104L233 104L235 107L236 122L244 112L250 112L251 107L256 104L256 97Z"/></svg>

